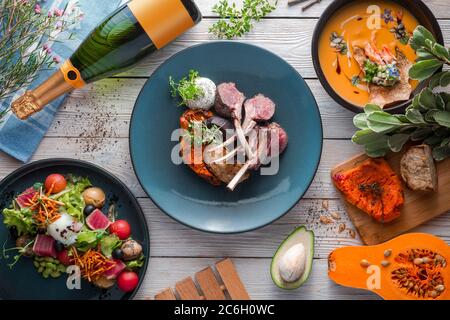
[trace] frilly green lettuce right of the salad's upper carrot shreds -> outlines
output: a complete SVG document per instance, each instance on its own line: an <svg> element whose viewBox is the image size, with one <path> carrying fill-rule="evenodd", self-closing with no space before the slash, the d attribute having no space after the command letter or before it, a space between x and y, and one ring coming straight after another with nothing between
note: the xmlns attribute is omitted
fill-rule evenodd
<svg viewBox="0 0 450 320"><path fill-rule="evenodd" d="M65 209L68 214L77 219L83 221L83 191L92 186L88 178L74 178L70 177L67 182L66 190L55 196L61 202L64 202Z"/></svg>

